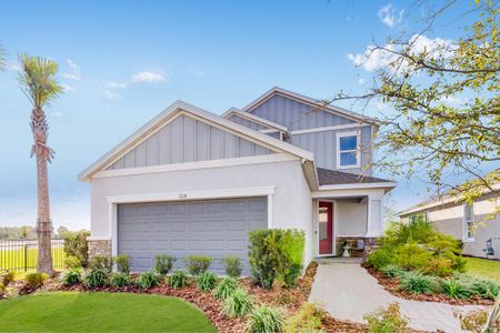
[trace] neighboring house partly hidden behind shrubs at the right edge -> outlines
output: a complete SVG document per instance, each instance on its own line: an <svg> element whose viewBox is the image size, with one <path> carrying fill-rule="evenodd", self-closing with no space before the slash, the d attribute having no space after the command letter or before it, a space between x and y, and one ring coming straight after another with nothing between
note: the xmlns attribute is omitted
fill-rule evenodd
<svg viewBox="0 0 500 333"><path fill-rule="evenodd" d="M500 215L494 214L500 204L500 183L494 183L492 190L486 190L473 204L444 194L404 210L399 216L411 223L421 215L440 232L462 241L463 254L500 259Z"/></svg>

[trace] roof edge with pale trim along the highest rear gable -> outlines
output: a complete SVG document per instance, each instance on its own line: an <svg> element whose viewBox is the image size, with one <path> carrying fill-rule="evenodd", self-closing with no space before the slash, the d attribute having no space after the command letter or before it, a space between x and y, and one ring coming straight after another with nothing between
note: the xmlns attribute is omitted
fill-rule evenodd
<svg viewBox="0 0 500 333"><path fill-rule="evenodd" d="M300 94L298 92L293 92L290 90L286 90L282 89L280 87L273 87L270 90L268 90L267 92L264 92L262 95L260 95L258 99L256 99L254 101L252 101L250 104L248 104L247 107L244 107L243 109L241 109L242 112L251 112L254 108L259 107L260 104L262 104L263 102L266 102L267 100L271 99L273 95L282 95L292 100L296 100L298 102L301 103L306 103L309 104L313 108L320 109L320 110L324 110L327 112L331 112L338 115L342 115L346 118L349 118L351 120L354 121L361 121L361 122L366 122L366 123L370 123L370 124L374 124L374 125L379 125L380 123L370 117L360 114L360 113L356 113L349 110L346 110L343 108L340 107L336 107L329 103L326 103L324 101L321 100L314 100L310 97Z"/></svg>

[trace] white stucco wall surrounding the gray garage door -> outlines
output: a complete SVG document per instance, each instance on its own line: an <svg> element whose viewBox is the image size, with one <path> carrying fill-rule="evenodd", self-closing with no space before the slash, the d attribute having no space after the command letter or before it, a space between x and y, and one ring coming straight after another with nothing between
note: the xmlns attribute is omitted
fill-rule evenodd
<svg viewBox="0 0 500 333"><path fill-rule="evenodd" d="M276 186L272 228L306 231L306 258L313 256L312 200L299 160L91 179L91 236L110 238L107 196L217 189Z"/></svg>

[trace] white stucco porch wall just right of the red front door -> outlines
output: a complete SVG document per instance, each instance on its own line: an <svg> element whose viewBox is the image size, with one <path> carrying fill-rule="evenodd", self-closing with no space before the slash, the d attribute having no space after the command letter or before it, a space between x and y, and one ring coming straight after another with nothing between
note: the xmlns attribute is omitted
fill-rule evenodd
<svg viewBox="0 0 500 333"><path fill-rule="evenodd" d="M363 236L367 233L367 199L346 199L336 201L336 224L338 236Z"/></svg>

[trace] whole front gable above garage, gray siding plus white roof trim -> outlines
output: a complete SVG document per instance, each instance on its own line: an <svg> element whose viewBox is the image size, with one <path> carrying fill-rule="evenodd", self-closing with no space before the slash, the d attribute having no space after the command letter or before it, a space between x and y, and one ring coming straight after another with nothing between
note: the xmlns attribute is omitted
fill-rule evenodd
<svg viewBox="0 0 500 333"><path fill-rule="evenodd" d="M171 128L169 128L169 123L174 125L170 125ZM167 128L169 129L166 130ZM199 151L204 154L204 157L201 157L202 159L223 159L224 155L244 157L271 152L288 152L301 159L312 160L312 153L308 151L233 123L194 105L177 101L101 157L96 163L82 171L79 179L82 181L89 180L96 172L106 169L146 167L150 165L149 163L154 165L156 163L163 162L177 163L191 161L193 159L192 148L198 148L199 144L207 144L204 141L208 140L201 142L198 140L194 141L193 135L186 135L183 132L186 129L189 129L196 135L202 133L206 138L210 138L210 140L213 138L214 142L220 143L218 147L206 147L210 150L210 158L207 155L208 152L203 151L200 145ZM187 140L182 141L182 149L176 148L176 152L171 150L171 142L174 141L166 140L164 142L170 142L170 151L167 157L167 149L163 150L163 155L160 157L160 150L156 147L156 144L160 144L160 135L174 135L174 138ZM184 144L187 144L186 149L183 148ZM148 155L148 145L153 152L158 151L158 155L154 153Z"/></svg>

